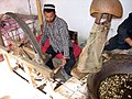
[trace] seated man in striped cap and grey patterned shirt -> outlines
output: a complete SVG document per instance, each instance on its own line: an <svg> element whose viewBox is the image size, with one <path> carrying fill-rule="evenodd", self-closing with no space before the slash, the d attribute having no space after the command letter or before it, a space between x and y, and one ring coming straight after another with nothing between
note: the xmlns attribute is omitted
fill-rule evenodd
<svg viewBox="0 0 132 99"><path fill-rule="evenodd" d="M43 12L45 16L44 33L41 37L40 44L43 46L46 40L50 40L50 46L47 47L46 53L51 54L52 58L58 53L62 53L62 66L67 75L70 76L70 70L76 61L73 52L73 43L69 40L67 23L56 15L54 4L44 4ZM46 63L51 69L54 68L52 58Z"/></svg>

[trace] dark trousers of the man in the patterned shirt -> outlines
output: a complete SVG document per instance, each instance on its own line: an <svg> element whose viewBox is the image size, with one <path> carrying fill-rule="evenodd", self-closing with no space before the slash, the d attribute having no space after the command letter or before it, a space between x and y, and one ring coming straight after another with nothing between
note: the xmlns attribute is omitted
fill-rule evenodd
<svg viewBox="0 0 132 99"><path fill-rule="evenodd" d="M52 58L46 63L46 65L47 65L51 69L53 69L53 68L54 68L54 65L53 65L52 59L53 59L58 53L56 53L56 52L53 50L52 46L50 46L50 47L47 48L46 53L52 55ZM63 54L63 52L62 52L62 54ZM76 63L75 56L74 56L74 52L73 52L73 47L69 47L69 56L70 56L70 58L69 58L69 59L66 59L66 64L65 64L65 66L64 66L64 69L65 69L65 72L66 72L68 75L70 75L70 72L72 72L72 69L73 69L73 67L74 67L74 65L75 65L75 63Z"/></svg>

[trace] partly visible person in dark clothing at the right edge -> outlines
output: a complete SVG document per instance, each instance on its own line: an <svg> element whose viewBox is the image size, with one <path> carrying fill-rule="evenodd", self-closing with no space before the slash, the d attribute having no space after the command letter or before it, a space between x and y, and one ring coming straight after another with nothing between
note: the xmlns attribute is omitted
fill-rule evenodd
<svg viewBox="0 0 132 99"><path fill-rule="evenodd" d="M128 50L132 47L132 12L119 25L118 34L111 37L105 46L105 51Z"/></svg>

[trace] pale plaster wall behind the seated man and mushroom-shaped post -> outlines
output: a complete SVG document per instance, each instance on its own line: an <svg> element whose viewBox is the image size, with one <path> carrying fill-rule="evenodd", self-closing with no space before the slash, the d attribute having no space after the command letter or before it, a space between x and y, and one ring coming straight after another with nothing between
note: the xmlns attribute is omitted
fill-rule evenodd
<svg viewBox="0 0 132 99"><path fill-rule="evenodd" d="M0 13L8 11L30 14L29 1L33 14L37 14L36 0L0 0ZM56 13L63 18L70 30L77 31L80 37L87 38L95 18L89 13L92 0L41 0L42 8L44 3L54 3ZM132 12L131 0L120 0L123 7L123 16L113 19L108 38L117 34L118 25Z"/></svg>

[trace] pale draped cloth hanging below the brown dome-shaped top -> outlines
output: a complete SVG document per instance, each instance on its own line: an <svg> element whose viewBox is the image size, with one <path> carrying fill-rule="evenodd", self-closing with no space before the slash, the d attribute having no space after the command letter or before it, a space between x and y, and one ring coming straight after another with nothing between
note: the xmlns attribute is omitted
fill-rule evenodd
<svg viewBox="0 0 132 99"><path fill-rule="evenodd" d="M86 46L79 56L77 69L81 73L98 73L102 67L101 54L107 40L110 22L95 23Z"/></svg>

